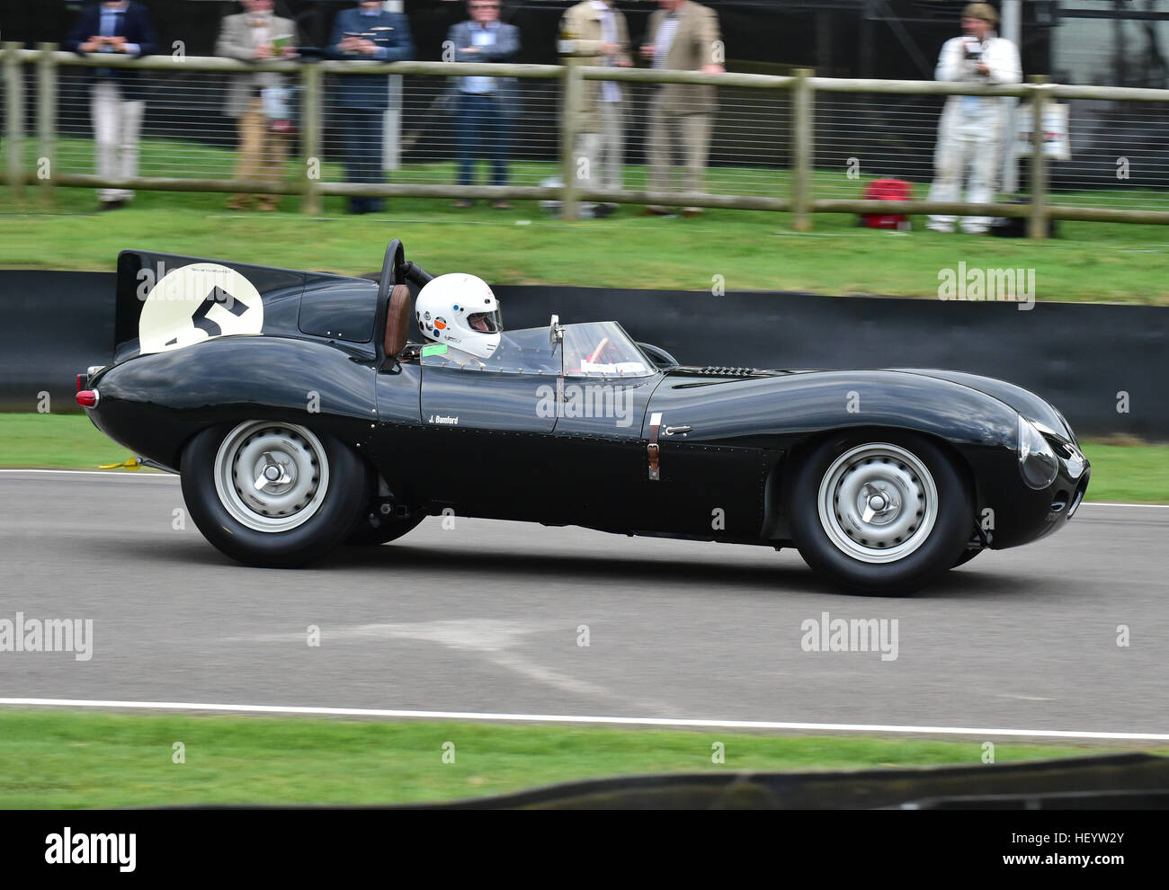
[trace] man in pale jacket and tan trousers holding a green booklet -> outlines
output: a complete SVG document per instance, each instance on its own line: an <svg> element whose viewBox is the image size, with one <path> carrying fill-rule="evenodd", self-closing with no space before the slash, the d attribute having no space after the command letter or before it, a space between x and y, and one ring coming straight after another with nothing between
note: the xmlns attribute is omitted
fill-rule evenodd
<svg viewBox="0 0 1169 890"><path fill-rule="evenodd" d="M241 0L244 12L223 16L215 54L241 62L293 58L297 55L296 23L272 15L272 0ZM282 78L272 71L233 77L228 92L228 116L238 121L240 160L235 178L281 181L289 154L286 119L271 118L264 106L264 92L279 89ZM271 93L269 93L271 96ZM231 195L227 206L247 210L258 199L261 210L275 210L277 195Z"/></svg>

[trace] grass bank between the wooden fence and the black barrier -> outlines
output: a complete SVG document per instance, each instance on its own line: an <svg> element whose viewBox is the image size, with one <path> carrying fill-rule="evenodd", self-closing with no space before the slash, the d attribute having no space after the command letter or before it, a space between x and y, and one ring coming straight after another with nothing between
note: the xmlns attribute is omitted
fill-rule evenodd
<svg viewBox="0 0 1169 890"><path fill-rule="evenodd" d="M217 164L229 171L230 154ZM454 181L452 168L433 166L395 174L395 181ZM533 162L514 167L517 182L553 172ZM776 194L786 194L787 174L766 174ZM747 178L742 188L728 182L725 190L750 193L749 176L762 173L736 175ZM642 176L631 167L629 187ZM823 194L841 188L838 173L821 171L817 181ZM863 185L850 182L849 194ZM2 192L0 207L14 208ZM447 201L426 199L390 200L387 213L365 216L346 216L343 199L327 199L324 214L310 218L297 213L296 197L282 199L281 213L240 214L224 209L227 195L160 192L97 214L92 192L68 188L55 190L54 211L44 213L36 189L28 192L29 213L0 214L0 267L109 271L119 250L143 248L364 274L381 267L386 243L400 237L408 258L424 267L473 272L493 284L708 291L721 276L729 291L936 298L940 271L961 260L967 269L1033 269L1039 300L1169 305L1169 238L1155 225L1061 223L1059 238L1029 242L926 231L924 217L914 218L911 234L859 229L853 216L823 214L814 231L800 234L789 214L711 210L698 220L646 218L639 207L622 207L607 220L566 223L532 201L517 202L513 211L483 202L456 211Z"/></svg>

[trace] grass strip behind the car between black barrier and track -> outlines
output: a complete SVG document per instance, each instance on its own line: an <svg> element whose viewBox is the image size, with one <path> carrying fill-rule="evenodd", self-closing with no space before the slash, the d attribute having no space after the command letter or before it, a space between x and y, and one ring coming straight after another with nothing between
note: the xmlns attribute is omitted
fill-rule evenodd
<svg viewBox="0 0 1169 890"><path fill-rule="evenodd" d="M1082 445L1090 500L1169 503L1169 445ZM0 413L0 467L97 470L130 457L84 415Z"/></svg>

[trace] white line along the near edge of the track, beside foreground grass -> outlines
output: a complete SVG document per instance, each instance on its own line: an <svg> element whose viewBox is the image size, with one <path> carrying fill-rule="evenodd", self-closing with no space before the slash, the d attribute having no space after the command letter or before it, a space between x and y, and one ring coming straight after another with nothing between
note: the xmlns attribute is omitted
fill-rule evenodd
<svg viewBox="0 0 1169 890"><path fill-rule="evenodd" d="M675 719L667 717L592 717L562 714L480 714L478 711L414 711L382 708L310 708L279 704L206 704L195 702L123 702L88 698L0 698L14 707L120 708L167 711L224 711L235 714L300 714L325 717L397 717L406 719L463 719L489 723L606 723L636 726L697 726L704 729L782 729L812 732L892 732L946 736L1010 736L1115 742L1169 742L1169 732L1084 732L1061 729L977 729L971 726L895 726L866 723L786 723L775 721Z"/></svg>

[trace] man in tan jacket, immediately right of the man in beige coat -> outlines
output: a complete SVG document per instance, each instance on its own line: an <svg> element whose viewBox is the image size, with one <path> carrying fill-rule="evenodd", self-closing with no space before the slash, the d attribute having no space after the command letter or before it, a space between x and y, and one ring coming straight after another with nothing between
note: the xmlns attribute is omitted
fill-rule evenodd
<svg viewBox="0 0 1169 890"><path fill-rule="evenodd" d="M713 9L692 0L658 0L659 9L650 16L642 55L653 68L722 74L724 49L719 20ZM713 86L662 84L650 100L650 132L646 153L650 159L650 190L670 190L670 168L676 150L685 158L685 192L701 192L711 128L718 110ZM664 207L648 207L648 214L665 215ZM701 210L687 207L684 216Z"/></svg>

